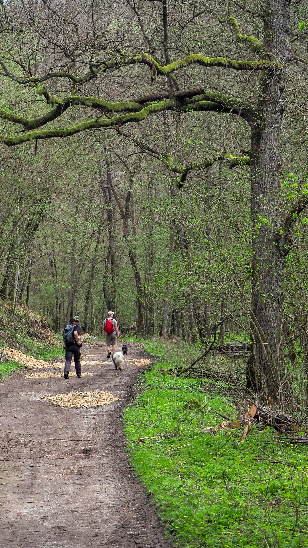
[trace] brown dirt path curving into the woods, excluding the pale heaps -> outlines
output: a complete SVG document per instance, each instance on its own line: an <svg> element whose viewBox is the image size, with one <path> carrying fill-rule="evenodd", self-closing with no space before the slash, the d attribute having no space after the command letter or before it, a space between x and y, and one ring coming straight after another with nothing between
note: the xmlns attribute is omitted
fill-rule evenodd
<svg viewBox="0 0 308 548"><path fill-rule="evenodd" d="M83 345L83 361L103 362L82 366L92 376L77 379L72 366L68 380L27 379L35 370L26 370L0 383L2 548L170 548L129 467L123 436L123 409L140 374L133 362L144 356L138 345L129 344L129 359L116 371L105 348ZM69 409L39 398L90 390L121 399Z"/></svg>

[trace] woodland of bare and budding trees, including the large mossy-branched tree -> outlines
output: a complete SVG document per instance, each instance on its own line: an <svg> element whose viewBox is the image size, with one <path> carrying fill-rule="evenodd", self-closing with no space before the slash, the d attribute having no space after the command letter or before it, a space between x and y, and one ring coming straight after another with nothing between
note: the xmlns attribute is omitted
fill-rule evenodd
<svg viewBox="0 0 308 548"><path fill-rule="evenodd" d="M2 299L237 340L260 400L306 397L307 9L2 0Z"/></svg>

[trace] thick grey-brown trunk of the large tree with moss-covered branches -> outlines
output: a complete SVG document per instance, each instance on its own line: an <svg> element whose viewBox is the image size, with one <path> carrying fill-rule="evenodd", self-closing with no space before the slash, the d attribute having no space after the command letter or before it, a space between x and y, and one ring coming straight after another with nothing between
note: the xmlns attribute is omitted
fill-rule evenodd
<svg viewBox="0 0 308 548"><path fill-rule="evenodd" d="M283 404L289 397L282 338L283 271L286 250L281 244L280 169L290 21L287 2L268 0L266 47L281 65L261 79L259 112L252 127L252 340L247 385L259 396Z"/></svg>

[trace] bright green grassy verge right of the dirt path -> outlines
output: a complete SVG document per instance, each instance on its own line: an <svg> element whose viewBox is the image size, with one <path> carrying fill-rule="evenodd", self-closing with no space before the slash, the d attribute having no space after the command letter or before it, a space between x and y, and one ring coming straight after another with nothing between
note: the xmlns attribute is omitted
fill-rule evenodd
<svg viewBox="0 0 308 548"><path fill-rule="evenodd" d="M183 359L178 344L150 341L146 350L162 361L141 376L124 422L130 460L174 544L308 546L307 448L283 442L269 427L252 427L244 442L243 429L203 433L223 421L220 415L236 418L230 390L160 374L158 367ZM196 352L187 347L185 363Z"/></svg>

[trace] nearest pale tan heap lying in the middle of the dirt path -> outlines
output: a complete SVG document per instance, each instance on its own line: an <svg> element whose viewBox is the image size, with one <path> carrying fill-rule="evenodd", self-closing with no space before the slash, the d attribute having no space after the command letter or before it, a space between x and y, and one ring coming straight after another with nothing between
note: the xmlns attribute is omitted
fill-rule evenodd
<svg viewBox="0 0 308 548"><path fill-rule="evenodd" d="M47 399L55 406L61 407L98 407L106 406L109 403L119 400L108 392L68 392L67 394L55 394L54 396L39 396Z"/></svg>

